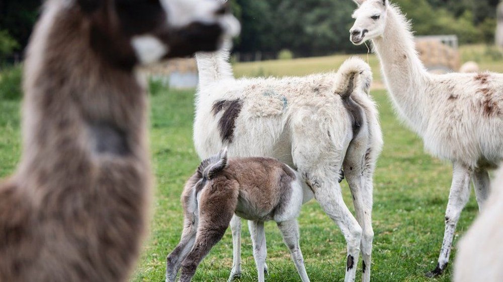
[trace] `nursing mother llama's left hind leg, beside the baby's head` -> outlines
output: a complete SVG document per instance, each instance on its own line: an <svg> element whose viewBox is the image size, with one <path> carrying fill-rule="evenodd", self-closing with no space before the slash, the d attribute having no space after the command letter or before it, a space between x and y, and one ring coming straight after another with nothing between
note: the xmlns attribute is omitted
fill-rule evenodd
<svg viewBox="0 0 503 282"><path fill-rule="evenodd" d="M339 172L340 169L335 171ZM326 175L305 173L304 175L307 176L306 182L314 191L314 198L323 211L339 226L346 239L348 256L344 281L353 282L360 254L362 228L344 203L341 186L335 177L336 173Z"/></svg>

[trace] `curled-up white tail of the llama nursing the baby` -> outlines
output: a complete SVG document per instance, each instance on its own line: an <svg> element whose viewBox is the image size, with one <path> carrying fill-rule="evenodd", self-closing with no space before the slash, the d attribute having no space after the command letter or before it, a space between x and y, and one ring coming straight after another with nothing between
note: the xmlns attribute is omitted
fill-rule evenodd
<svg viewBox="0 0 503 282"><path fill-rule="evenodd" d="M358 57L344 61L338 71L339 81L336 83L335 93L347 98L355 90L370 93L372 84L372 71L370 66Z"/></svg>

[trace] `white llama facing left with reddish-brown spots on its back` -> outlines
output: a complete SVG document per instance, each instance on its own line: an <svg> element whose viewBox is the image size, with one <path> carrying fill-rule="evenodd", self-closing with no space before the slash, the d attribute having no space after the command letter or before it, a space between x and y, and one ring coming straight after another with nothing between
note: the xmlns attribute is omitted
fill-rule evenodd
<svg viewBox="0 0 503 282"><path fill-rule="evenodd" d="M503 75L495 73L430 74L418 59L410 24L387 0L356 0L354 44L372 40L384 80L398 115L423 137L432 155L453 163L453 180L445 214L445 232L437 267L449 261L461 210L473 178L479 209L489 194L488 170L503 160Z"/></svg>

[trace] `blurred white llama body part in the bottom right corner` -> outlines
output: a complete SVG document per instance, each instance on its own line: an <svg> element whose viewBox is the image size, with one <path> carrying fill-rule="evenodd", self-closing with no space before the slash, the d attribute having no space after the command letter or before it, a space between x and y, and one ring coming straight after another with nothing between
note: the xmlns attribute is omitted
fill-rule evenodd
<svg viewBox="0 0 503 282"><path fill-rule="evenodd" d="M503 170L492 182L486 207L458 244L454 282L503 281Z"/></svg>

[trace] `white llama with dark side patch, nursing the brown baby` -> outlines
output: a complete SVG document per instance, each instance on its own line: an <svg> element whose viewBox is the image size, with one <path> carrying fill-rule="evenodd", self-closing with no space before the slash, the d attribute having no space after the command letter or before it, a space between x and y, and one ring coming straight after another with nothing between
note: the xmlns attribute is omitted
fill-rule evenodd
<svg viewBox="0 0 503 282"><path fill-rule="evenodd" d="M376 106L368 94L370 67L352 58L337 73L234 79L228 57L228 52L196 54L200 85L194 142L200 158L228 146L232 157L272 157L296 168L345 236L345 281L354 281L360 251L363 280L369 281L373 172L382 148ZM356 219L342 198L343 167ZM254 224L248 227L257 233ZM231 230L229 280L241 273L238 217L231 220Z"/></svg>

